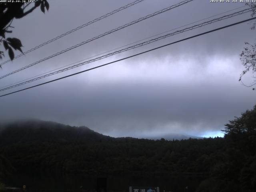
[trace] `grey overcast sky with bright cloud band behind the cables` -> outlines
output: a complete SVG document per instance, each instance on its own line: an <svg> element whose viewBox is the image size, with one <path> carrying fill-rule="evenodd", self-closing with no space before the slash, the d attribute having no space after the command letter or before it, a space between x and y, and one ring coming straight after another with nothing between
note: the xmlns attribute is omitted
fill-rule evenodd
<svg viewBox="0 0 256 192"><path fill-rule="evenodd" d="M26 51L130 2L132 0L49 0L49 12L43 14L38 8L28 16L14 20L12 26L15 28L10 37L19 38ZM144 0L5 64L0 75L178 2L180 0ZM239 8L244 5L239 2L210 3L210 0L194 0L3 78L0 86L238 8L208 20L218 18L245 9L246 7ZM246 18L250 18L250 13L184 32L1 94L118 60ZM224 128L224 124L256 104L256 92L238 82L240 73L244 70L239 54L245 46L244 42L254 43L256 38L256 32L250 30L250 26L251 23L246 22L4 96L0 98L0 120L50 120L71 126L88 126L92 130L115 137L146 138L170 133L221 135L220 130ZM2 61L6 59L8 56ZM252 74L248 74L244 82L252 82L251 76Z"/></svg>

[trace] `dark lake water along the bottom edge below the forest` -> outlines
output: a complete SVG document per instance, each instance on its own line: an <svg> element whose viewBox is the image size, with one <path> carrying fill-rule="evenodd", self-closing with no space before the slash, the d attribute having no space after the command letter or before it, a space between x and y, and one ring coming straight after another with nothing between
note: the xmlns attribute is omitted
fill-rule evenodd
<svg viewBox="0 0 256 192"><path fill-rule="evenodd" d="M27 192L82 192L97 191L96 175L87 174L64 174L64 175L41 175L28 176L16 175L9 178L6 185L22 188L26 185ZM129 186L159 186L160 191L183 191L188 185L191 191L194 182L200 182L200 178L194 179L192 176L164 176L164 175L108 175L106 178L107 191L128 192Z"/></svg>

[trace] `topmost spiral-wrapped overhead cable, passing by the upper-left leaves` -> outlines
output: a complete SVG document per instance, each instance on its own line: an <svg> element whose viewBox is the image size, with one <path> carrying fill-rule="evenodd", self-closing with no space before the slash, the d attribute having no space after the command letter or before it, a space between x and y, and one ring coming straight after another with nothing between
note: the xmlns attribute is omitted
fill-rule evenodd
<svg viewBox="0 0 256 192"><path fill-rule="evenodd" d="M115 13L121 11L121 10L124 10L124 9L126 9L126 8L128 8L128 7L130 7L130 6L133 6L133 5L137 4L137 3L140 3L140 2L142 2L142 1L144 1L144 0L136 0L136 1L132 2L132 3L130 3L130 4L127 4L127 5L125 5L125 6L122 6L122 7L118 8L118 9L116 9L116 10L110 12L110 13L107 13L107 14L105 14L105 15L103 15L103 16L100 16L100 17L98 17L98 18L96 18L96 19L94 19L94 20L92 20L92 21L89 21L89 22L87 22L87 23L85 23L85 24L82 24L81 26L78 26L78 27L76 27L76 28L74 28L74 29L72 29L72 30L70 30L70 31L68 31L68 32L66 32L66 33L63 33L63 34L61 34L61 35L59 35L59 36L57 36L57 37L55 37L55 38L53 38L53 39L51 39L51 40L48 40L47 42L44 42L44 43L42 43L42 44L40 44L40 45L38 45L38 46L36 46L36 47L30 49L30 50L27 50L27 51L24 52L23 54L19 54L19 55L15 56L14 59L19 58L20 56L22 56L22 55L24 55L24 54L27 54L27 53L29 53L29 52L32 52L32 51L34 51L34 50L36 50L36 49L38 49L38 48L40 48L40 47L42 47L42 46L45 46L45 45L47 45L47 44L49 44L49 43L51 43L51 42L54 42L55 40L57 40L57 39L59 39L59 38L62 38L62 37L66 36L66 35L68 35L68 34L70 34L70 33L72 33L72 32L75 32L75 31L77 31L77 30L79 30L79 29L81 29L81 28L84 28L84 27L86 27L86 26L88 26L88 25L90 25L90 24L93 24L93 23L95 23L95 22L97 22L97 21L99 21L99 20L102 20L102 19L104 19L104 18L106 18L106 17L108 17L108 16L111 16L111 15L113 15L113 14L115 14ZM5 61L5 62L2 62L2 63L0 64L0 66L4 65L4 64L6 64L6 63L8 63L8 62L10 62L10 61L11 61L11 60L7 60L7 61Z"/></svg>

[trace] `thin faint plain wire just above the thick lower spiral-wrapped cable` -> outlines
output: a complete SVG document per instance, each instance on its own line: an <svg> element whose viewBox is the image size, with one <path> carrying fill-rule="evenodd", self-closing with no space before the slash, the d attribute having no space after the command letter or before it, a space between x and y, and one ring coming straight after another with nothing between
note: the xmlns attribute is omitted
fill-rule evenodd
<svg viewBox="0 0 256 192"><path fill-rule="evenodd" d="M120 48L123 48L123 47L126 47L126 46L129 46L129 45L132 45L132 44L134 44L134 43L138 43L138 42L141 42L141 41L143 41L143 40L146 40L146 39L149 39L149 38L152 38L152 37L155 37L155 36L158 36L158 35L161 35L161 34L164 34L164 33L167 33L167 32L170 32L170 31L173 31L173 30L176 30L176 29L179 29L179 28L182 28L182 27L185 27L185 26L194 24L194 23L197 23L197 22L200 22L200 21L203 21L203 20L206 20L206 19L209 19L209 18L213 18L213 17L215 17L215 16L219 16L219 15L222 15L222 14L224 14L224 13L231 12L231 11L234 11L234 10L237 10L237 9L240 9L240 8L243 8L243 7L246 7L246 5L240 6L240 7L238 7L238 8L234 8L234 9L232 9L232 10L228 10L228 11L225 11L225 12L222 12L222 13L219 13L219 14L216 14L216 15L213 15L213 16L210 16L210 17L207 17L207 18L204 18L204 19L197 20L197 21L195 21L195 22L192 22L192 23L189 23L189 24L186 24L186 25L183 25L183 26L180 26L180 27L177 27L177 28L174 28L174 29L171 29L171 30L162 32L162 33L158 33L158 34L156 34L156 35L153 35L153 36L150 36L150 37L147 37L147 38L138 40L138 41L136 41L136 42L132 42L132 43L123 45L123 46L121 46L121 47L114 48L114 49L112 49L112 50L108 50L108 51L106 51L106 52L102 52L102 53L100 53L100 54L96 54L96 55L94 55L94 56L90 56L90 57L88 57L88 58L85 58L85 59L82 59L82 60L73 62L73 63L71 63L71 64L68 64L68 65L65 65L65 66L62 66L62 67L59 67L59 68L55 68L55 69L53 69L53 70L50 70L50 71L47 71L47 72L38 74L38 75L36 75L36 76L32 76L32 77L30 77L30 78L26 78L26 79L24 79L24 80L20 80L20 81L18 81L18 82L12 83L12 84L8 84L8 85L6 85L6 86L2 86L2 87L0 87L0 89L5 88L5 87L8 87L8 86L12 86L12 85L14 85L14 84L17 84L17 83L20 83L20 82L23 82L23 81L26 81L26 80L29 80L29 79L38 77L38 76L40 76L40 75L53 72L53 71L55 71L55 70L58 70L58 69L61 69L61 68L64 68L64 67L67 67L67 66L70 66L70 65L73 65L73 64L82 62L82 61L84 61L84 60L88 60L88 59L90 59L90 58L94 58L94 57L96 57L96 56L99 56L99 55L102 55L102 54L105 54L105 53L108 53L108 52L111 52L111 51L114 51L114 50L117 50L117 49L120 49ZM1 90L0 90L0 91L1 91Z"/></svg>

